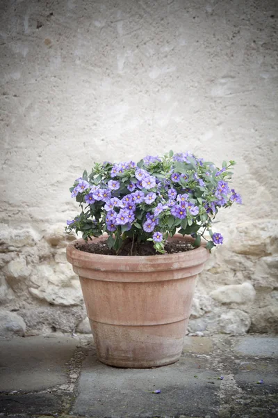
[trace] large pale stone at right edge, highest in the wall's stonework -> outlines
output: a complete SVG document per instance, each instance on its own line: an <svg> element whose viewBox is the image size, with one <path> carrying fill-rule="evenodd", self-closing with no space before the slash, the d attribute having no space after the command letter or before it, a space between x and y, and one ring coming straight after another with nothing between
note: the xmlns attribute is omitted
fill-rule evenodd
<svg viewBox="0 0 278 418"><path fill-rule="evenodd" d="M270 256L278 253L278 220L257 219L237 224L231 233L231 249L247 256Z"/></svg>

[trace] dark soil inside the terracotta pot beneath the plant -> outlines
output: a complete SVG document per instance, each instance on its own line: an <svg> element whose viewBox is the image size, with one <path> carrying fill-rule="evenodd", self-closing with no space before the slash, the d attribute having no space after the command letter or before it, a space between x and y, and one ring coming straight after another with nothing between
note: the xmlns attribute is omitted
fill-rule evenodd
<svg viewBox="0 0 278 418"><path fill-rule="evenodd" d="M131 255L131 247L132 242L126 242L126 245L120 249L119 253L116 254L113 249L109 249L107 245L107 241L101 242L87 242L85 244L76 244L76 249L80 249L81 251L89 252L92 254L104 254L107 256L130 256ZM194 249L194 247L188 241L183 240L174 240L174 241L166 241L165 244L165 254L174 254L184 251L190 251ZM140 242L140 244L134 243L132 249L133 256L158 256L161 253L156 252L154 249L153 242Z"/></svg>

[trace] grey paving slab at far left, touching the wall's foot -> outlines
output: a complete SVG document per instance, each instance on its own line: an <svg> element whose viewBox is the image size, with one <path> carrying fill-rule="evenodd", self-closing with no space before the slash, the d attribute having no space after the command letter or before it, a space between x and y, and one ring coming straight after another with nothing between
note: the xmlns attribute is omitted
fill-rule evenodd
<svg viewBox="0 0 278 418"><path fill-rule="evenodd" d="M0 341L0 392L33 392L67 383L67 362L79 341L30 336Z"/></svg>

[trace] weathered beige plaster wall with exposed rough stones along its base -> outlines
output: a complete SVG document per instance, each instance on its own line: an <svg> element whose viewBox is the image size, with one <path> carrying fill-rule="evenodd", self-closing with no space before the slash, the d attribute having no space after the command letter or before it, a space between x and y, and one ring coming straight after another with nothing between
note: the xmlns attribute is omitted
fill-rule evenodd
<svg viewBox="0 0 278 418"><path fill-rule="evenodd" d="M277 330L276 0L2 0L0 334L85 332L63 228L104 160L236 160L191 333Z"/></svg>

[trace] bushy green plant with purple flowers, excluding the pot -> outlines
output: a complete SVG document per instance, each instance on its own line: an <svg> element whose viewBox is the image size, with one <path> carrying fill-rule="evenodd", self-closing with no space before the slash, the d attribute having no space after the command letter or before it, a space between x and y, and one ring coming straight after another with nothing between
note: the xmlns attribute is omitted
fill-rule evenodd
<svg viewBox="0 0 278 418"><path fill-rule="evenodd" d="M90 175L84 171L70 188L81 213L67 221L66 229L81 231L86 241L108 233L108 246L116 254L125 242L147 240L163 253L165 241L176 232L192 235L193 245L199 247L208 230L211 240L204 239L211 250L223 242L222 235L211 230L218 209L241 203L227 182L234 164L223 162L219 169L195 155L172 150L137 164L95 163Z"/></svg>

